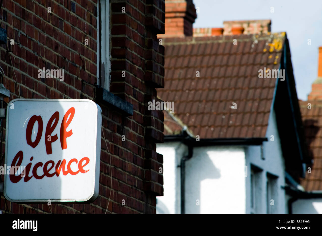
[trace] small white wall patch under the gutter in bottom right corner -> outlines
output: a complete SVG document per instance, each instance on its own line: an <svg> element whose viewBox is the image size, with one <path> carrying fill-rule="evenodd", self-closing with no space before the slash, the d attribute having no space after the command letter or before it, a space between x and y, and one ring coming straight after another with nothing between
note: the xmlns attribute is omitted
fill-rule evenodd
<svg viewBox="0 0 322 236"><path fill-rule="evenodd" d="M322 198L299 199L292 203L293 214L322 214Z"/></svg>

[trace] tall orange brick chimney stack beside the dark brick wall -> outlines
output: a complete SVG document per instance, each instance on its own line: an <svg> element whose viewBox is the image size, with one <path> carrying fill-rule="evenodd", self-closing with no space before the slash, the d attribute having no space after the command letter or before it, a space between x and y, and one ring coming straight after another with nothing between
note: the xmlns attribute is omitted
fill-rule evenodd
<svg viewBox="0 0 322 236"><path fill-rule="evenodd" d="M197 18L196 9L192 0L165 0L166 21L165 34L158 37L192 36L192 24Z"/></svg>

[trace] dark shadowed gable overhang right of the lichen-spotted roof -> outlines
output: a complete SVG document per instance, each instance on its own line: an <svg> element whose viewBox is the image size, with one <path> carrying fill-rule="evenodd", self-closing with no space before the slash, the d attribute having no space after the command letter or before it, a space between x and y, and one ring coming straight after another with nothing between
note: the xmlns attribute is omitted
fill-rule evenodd
<svg viewBox="0 0 322 236"><path fill-rule="evenodd" d="M303 126L301 124L302 120L287 38L285 39L282 50L283 52L279 69L285 69L285 80L281 81L280 79L277 79L273 109L275 109L276 113L276 122L281 139L282 153L286 160L286 170L292 170L290 171L290 174L294 179L298 180L299 177L305 177L302 163L307 162L308 152L304 145L304 132L301 130ZM280 101L287 102L287 104L289 104L287 109L283 107L283 104ZM287 123L285 124L286 121ZM292 132L290 137L287 136L289 132ZM290 152L292 155L290 155Z"/></svg>

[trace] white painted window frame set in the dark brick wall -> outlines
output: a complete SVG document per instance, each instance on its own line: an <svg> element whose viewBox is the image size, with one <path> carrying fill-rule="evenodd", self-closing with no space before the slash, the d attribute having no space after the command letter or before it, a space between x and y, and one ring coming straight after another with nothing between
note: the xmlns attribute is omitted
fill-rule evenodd
<svg viewBox="0 0 322 236"><path fill-rule="evenodd" d="M109 0L99 0L97 10L97 85L109 91L110 83L110 30ZM102 27L105 26L105 27ZM104 65L105 80L102 81L101 65Z"/></svg>

